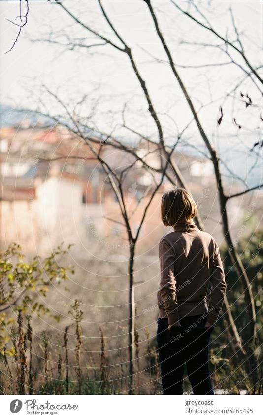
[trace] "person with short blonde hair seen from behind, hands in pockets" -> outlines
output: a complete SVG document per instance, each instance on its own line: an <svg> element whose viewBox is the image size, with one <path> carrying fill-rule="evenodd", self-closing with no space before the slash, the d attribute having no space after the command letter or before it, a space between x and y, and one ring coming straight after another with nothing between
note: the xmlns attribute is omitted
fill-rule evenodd
<svg viewBox="0 0 263 419"><path fill-rule="evenodd" d="M183 394L185 364L194 394L214 394L209 339L227 286L218 245L198 229L196 215L197 205L187 190L164 193L161 217L173 231L159 243L157 345L163 394Z"/></svg>

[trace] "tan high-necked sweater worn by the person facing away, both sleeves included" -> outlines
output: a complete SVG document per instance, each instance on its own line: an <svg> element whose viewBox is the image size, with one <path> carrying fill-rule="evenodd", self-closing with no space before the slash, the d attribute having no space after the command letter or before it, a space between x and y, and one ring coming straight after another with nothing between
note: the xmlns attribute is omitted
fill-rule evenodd
<svg viewBox="0 0 263 419"><path fill-rule="evenodd" d="M161 238L159 259L159 317L168 317L172 326L182 317L208 312L207 321L214 324L227 288L215 239L192 220L177 224L174 231Z"/></svg>

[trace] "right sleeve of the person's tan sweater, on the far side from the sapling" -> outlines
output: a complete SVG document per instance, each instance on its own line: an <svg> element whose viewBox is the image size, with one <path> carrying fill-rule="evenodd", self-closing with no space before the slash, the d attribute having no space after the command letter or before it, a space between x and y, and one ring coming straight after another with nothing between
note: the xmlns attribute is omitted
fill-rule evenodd
<svg viewBox="0 0 263 419"><path fill-rule="evenodd" d="M213 270L210 281L211 291L210 299L208 301L209 314L207 316L207 321L211 324L215 324L222 308L227 288L224 268L217 243L215 243Z"/></svg>

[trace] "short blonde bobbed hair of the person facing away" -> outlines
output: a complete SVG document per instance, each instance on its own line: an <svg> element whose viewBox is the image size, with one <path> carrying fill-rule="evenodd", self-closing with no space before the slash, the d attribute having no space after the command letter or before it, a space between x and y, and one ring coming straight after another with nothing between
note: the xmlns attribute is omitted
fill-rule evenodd
<svg viewBox="0 0 263 419"><path fill-rule="evenodd" d="M197 215L197 205L188 190L175 188L162 196L161 217L164 226L186 222Z"/></svg>

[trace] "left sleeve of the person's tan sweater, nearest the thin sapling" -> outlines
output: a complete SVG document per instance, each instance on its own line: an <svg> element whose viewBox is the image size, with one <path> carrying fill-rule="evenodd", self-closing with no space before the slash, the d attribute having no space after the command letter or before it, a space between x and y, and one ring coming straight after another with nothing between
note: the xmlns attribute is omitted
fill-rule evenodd
<svg viewBox="0 0 263 419"><path fill-rule="evenodd" d="M171 246L162 239L159 243L159 261L161 270L160 294L168 317L169 327L179 322L176 297L176 280L174 277L175 255Z"/></svg>

